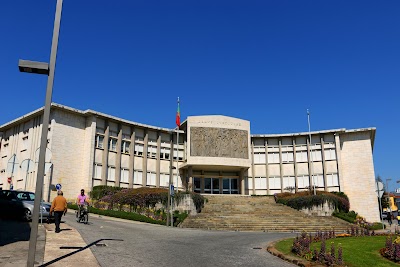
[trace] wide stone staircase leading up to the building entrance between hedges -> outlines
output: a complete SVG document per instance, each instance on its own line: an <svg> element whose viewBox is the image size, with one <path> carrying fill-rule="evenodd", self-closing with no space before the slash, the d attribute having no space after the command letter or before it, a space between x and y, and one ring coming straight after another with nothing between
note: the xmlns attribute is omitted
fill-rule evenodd
<svg viewBox="0 0 400 267"><path fill-rule="evenodd" d="M275 203L272 196L205 195L201 213L190 215L179 227L262 232L345 232L352 224L336 217L309 216Z"/></svg>

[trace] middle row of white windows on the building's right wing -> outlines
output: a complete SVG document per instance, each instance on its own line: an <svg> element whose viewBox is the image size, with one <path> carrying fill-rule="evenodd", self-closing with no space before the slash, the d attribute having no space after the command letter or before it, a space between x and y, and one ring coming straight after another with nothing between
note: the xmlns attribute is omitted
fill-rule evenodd
<svg viewBox="0 0 400 267"><path fill-rule="evenodd" d="M294 153L291 151L285 151L281 153L282 162L294 162ZM324 150L325 160L336 160L336 151L334 148ZM254 153L254 164L266 164L265 152ZM312 161L322 161L321 150L311 151ZM268 163L279 163L279 152L268 152ZM296 162L308 162L307 151L296 151Z"/></svg>

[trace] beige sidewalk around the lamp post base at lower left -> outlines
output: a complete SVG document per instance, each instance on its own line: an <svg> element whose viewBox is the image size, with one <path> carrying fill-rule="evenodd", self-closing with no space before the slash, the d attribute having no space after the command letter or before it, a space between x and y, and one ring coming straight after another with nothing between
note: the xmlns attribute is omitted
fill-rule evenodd
<svg viewBox="0 0 400 267"><path fill-rule="evenodd" d="M0 221L0 226L0 267L25 267L30 227L15 221ZM54 223L39 225L35 266L100 266L90 250L94 244L86 244L75 228L61 223L60 233L54 229Z"/></svg>

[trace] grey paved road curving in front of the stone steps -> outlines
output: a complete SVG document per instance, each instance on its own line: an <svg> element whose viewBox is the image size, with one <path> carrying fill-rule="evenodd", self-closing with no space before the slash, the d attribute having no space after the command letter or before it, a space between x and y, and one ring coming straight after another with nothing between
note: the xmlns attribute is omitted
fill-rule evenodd
<svg viewBox="0 0 400 267"><path fill-rule="evenodd" d="M87 244L117 239L101 241L106 244L104 247L92 247L101 266L294 266L264 249L270 241L292 234L170 228L97 215L84 225L76 223L72 214L64 218L78 229Z"/></svg>

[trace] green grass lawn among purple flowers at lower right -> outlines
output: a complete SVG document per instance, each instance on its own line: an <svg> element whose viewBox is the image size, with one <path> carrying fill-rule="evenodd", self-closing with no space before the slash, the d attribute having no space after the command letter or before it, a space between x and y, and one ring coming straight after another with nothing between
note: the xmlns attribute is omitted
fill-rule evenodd
<svg viewBox="0 0 400 267"><path fill-rule="evenodd" d="M367 237L345 237L328 239L326 241L326 250L330 251L331 242L334 242L336 253L339 243L343 248L343 260L349 267L389 267L400 265L389 261L379 254L379 249L385 247L385 236L367 236ZM275 248L286 255L294 256L291 253L293 238L285 239L275 244ZM318 251L321 243L312 243L311 249L316 248Z"/></svg>

